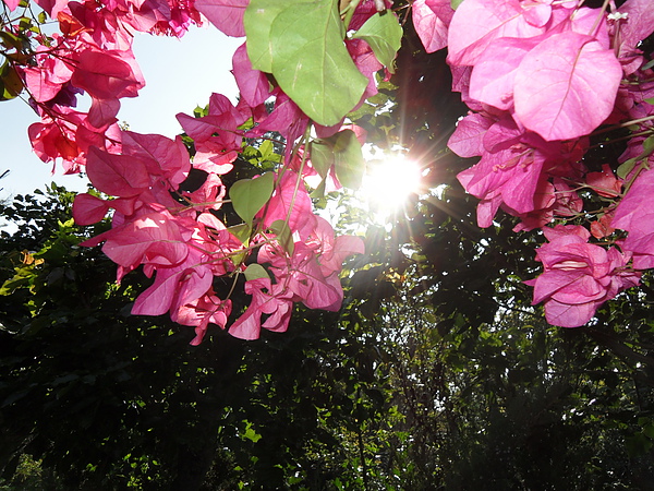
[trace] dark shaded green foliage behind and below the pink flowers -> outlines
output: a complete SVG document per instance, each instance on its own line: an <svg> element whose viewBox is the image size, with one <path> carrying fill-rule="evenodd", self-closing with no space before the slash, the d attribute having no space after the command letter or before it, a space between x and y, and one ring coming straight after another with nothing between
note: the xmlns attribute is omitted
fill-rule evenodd
<svg viewBox="0 0 654 491"><path fill-rule="evenodd" d="M342 229L367 227L341 312L298 309L251 343L214 326L191 347L192 328L130 315L148 279L116 285L78 246L108 224L75 227L71 193L0 206L19 224L0 236L2 489L654 488L651 278L590 327L544 324L522 284L542 239L502 216L477 228L456 181L469 163L443 151L465 109L405 28L399 89L384 83L359 123L411 147L438 189L384 225L339 197ZM250 146L226 179L265 155Z"/></svg>

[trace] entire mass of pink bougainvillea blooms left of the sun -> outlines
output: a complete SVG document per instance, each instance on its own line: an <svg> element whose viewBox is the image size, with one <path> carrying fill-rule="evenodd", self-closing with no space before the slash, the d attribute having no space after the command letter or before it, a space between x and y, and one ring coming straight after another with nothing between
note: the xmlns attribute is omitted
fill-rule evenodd
<svg viewBox="0 0 654 491"><path fill-rule="evenodd" d="M112 228L84 244L104 243L104 252L118 264L118 280L140 266L154 277L136 299L133 313L169 312L173 321L195 328L194 345L202 342L209 324L228 328L232 303L218 297L215 278L245 274L245 294L252 301L229 332L254 339L262 328L286 331L295 302L338 310L343 300L342 262L364 252L360 238L335 237L331 226L314 214L304 184L318 175L307 151L312 122L279 87L270 85L265 73L253 70L245 45L232 60L239 104L214 94L206 116L178 115L194 142L192 159L181 137L122 131L116 124L120 99L135 97L145 83L131 49L133 31L181 36L190 24L201 23L202 13L227 35L243 36L247 3L41 0L39 5L59 21L61 34L47 41L37 39L43 44L36 63L21 69L41 116L29 128L37 155L44 161L61 163L69 173L84 170L108 196L83 193L76 197L73 215L77 224L94 224L107 213L112 216ZM377 2L362 1L351 25L363 24L376 12ZM346 44L370 80L363 103L376 94L374 74L383 65L367 43L348 39ZM87 112L73 109L82 93L92 99ZM275 103L271 112L266 108L270 100ZM364 139L364 132L352 125L315 128L322 137L349 131ZM232 170L244 142L268 132L283 136L283 163L271 175L254 179L269 179L272 191L237 231L216 213L228 197L221 176ZM192 169L204 171L206 179L186 192L182 183ZM331 189L340 187L334 169L320 177ZM252 254L258 270L246 267Z"/></svg>

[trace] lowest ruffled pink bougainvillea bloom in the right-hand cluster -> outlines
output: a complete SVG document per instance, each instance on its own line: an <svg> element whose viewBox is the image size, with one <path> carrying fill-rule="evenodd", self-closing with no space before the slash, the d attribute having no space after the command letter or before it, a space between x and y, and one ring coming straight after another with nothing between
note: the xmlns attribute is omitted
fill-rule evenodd
<svg viewBox="0 0 654 491"><path fill-rule="evenodd" d="M581 326L606 300L639 284L623 254L588 243L589 237L583 227L555 227L547 231L549 243L536 251L544 273L525 283L534 287L533 304L545 302L553 325Z"/></svg>

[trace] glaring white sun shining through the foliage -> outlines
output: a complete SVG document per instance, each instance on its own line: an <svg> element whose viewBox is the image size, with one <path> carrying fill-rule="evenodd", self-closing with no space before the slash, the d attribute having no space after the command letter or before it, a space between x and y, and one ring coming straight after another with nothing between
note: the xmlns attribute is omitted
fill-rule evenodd
<svg viewBox="0 0 654 491"><path fill-rule="evenodd" d="M384 215L400 209L411 194L421 193L422 169L402 154L368 160L361 192L372 209Z"/></svg>

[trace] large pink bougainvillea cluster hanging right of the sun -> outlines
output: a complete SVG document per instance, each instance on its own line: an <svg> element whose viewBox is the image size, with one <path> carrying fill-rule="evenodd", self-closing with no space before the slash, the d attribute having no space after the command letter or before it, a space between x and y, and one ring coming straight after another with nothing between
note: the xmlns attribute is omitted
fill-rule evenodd
<svg viewBox="0 0 654 491"><path fill-rule="evenodd" d="M453 89L471 109L448 145L481 158L459 181L481 200L481 227L502 208L521 219L516 231L543 228L544 273L526 282L533 301L545 302L554 325L583 325L603 302L638 285L634 270L654 265L646 203L654 175L642 170L651 159L643 141L654 133L654 73L638 49L654 31L651 2L628 0L610 13L577 1L465 0L456 12L449 4L417 0L413 20L427 51L448 47ZM591 133L630 120L640 128L620 158L632 166L620 172L625 181L609 165L589 172L582 157ZM617 247L588 243L582 227L548 227L584 216L581 189L610 202L594 213L590 230Z"/></svg>

